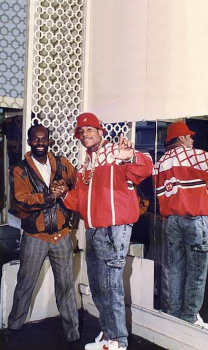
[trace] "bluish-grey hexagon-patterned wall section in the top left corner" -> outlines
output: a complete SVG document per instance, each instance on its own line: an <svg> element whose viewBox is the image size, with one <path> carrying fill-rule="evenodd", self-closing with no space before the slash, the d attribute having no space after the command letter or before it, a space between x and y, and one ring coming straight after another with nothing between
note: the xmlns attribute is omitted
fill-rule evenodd
<svg viewBox="0 0 208 350"><path fill-rule="evenodd" d="M0 0L0 96L23 98L27 0Z"/></svg>

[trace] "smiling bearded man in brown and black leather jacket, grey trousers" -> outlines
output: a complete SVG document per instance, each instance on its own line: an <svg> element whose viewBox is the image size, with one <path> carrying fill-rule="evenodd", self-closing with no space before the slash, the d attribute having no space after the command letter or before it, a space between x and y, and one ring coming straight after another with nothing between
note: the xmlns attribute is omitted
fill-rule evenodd
<svg viewBox="0 0 208 350"><path fill-rule="evenodd" d="M50 192L52 181L64 179L70 189L76 172L64 157L48 153L49 131L41 125L28 130L31 152L10 172L10 187L22 222L20 269L8 328L9 341L21 329L41 267L48 256L55 280L55 296L69 349L81 350L73 282L73 245L69 236L71 212Z"/></svg>

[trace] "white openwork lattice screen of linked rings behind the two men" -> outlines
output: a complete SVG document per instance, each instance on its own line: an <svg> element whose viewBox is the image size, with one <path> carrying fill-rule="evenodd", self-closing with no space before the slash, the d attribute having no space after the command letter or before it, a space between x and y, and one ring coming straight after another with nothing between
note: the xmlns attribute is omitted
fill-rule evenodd
<svg viewBox="0 0 208 350"><path fill-rule="evenodd" d="M82 111L84 62L84 0L35 2L32 124L49 128L55 155L79 163L80 144L73 137ZM108 124L107 139L129 131L128 124Z"/></svg>

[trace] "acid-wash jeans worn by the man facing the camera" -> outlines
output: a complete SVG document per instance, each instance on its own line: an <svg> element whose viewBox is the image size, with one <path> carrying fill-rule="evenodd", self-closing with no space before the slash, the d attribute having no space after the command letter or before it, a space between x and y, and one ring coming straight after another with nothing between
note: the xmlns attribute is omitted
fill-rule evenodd
<svg viewBox="0 0 208 350"><path fill-rule="evenodd" d="M86 262L92 299L99 311L105 339L127 346L123 269L132 226L88 228Z"/></svg>

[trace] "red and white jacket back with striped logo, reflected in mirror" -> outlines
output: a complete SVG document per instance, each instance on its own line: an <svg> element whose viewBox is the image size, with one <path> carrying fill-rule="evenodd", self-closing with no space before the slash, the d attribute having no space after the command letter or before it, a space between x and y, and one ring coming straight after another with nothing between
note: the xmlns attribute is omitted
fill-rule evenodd
<svg viewBox="0 0 208 350"><path fill-rule="evenodd" d="M153 179L162 215L208 215L207 152L173 145L155 164Z"/></svg>

